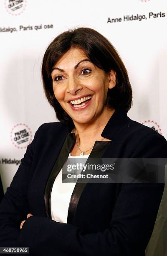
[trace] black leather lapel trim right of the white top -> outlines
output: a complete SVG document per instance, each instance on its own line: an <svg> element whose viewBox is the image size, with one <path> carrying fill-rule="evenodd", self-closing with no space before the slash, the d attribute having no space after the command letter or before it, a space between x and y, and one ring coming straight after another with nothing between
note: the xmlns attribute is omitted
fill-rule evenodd
<svg viewBox="0 0 167 256"><path fill-rule="evenodd" d="M94 147L91 151L91 154L89 155L89 158L102 158L104 155L106 149L108 148L111 141L96 141L94 144ZM88 161L87 159L87 161ZM87 163L86 161L86 163ZM78 180L77 180L78 182ZM79 199L81 197L81 194L83 192L83 189L85 188L87 183L77 183L73 189L73 193L71 195L71 200L68 207L68 217L67 217L67 223L73 224L73 220L76 214L76 208L79 202Z"/></svg>

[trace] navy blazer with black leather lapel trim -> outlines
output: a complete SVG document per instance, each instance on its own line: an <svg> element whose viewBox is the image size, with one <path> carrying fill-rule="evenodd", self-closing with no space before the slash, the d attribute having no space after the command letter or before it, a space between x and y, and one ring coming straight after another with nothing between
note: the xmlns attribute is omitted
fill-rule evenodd
<svg viewBox="0 0 167 256"><path fill-rule="evenodd" d="M34 256L144 256L164 184L76 183L67 223L51 220L51 189L73 146L71 131L59 122L38 128L0 205L0 246L26 246ZM111 141L96 141L89 157L167 158L164 137L124 110L101 136Z"/></svg>

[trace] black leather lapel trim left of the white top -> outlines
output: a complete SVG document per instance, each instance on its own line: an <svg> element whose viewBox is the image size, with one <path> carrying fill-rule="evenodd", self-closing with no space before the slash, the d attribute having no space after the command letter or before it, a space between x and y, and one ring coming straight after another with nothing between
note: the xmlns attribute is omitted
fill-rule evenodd
<svg viewBox="0 0 167 256"><path fill-rule="evenodd" d="M48 218L51 218L51 192L52 192L53 183L58 173L60 172L61 168L63 167L63 164L66 162L74 141L75 141L74 133L68 133L66 140L64 141L64 144L61 148L60 154L48 178L46 188L45 188L45 195L44 195L46 215Z"/></svg>

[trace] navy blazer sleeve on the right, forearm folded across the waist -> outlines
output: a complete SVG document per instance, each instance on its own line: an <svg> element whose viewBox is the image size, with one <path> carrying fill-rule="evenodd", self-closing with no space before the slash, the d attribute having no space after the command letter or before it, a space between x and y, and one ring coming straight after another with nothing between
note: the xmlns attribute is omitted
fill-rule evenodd
<svg viewBox="0 0 167 256"><path fill-rule="evenodd" d="M167 141L156 133L149 135L133 157L165 158ZM23 224L18 244L28 246L35 256L144 256L163 190L164 184L122 184L109 227L97 233L31 216Z"/></svg>

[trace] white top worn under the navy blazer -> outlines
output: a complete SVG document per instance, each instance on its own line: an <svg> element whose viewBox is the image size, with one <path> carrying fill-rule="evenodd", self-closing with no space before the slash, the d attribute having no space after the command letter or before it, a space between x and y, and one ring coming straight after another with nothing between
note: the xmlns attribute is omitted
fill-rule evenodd
<svg viewBox="0 0 167 256"><path fill-rule="evenodd" d="M68 158L88 158L89 155ZM68 207L76 183L62 183L62 169L57 175L51 191L51 218L57 222L67 223Z"/></svg>

